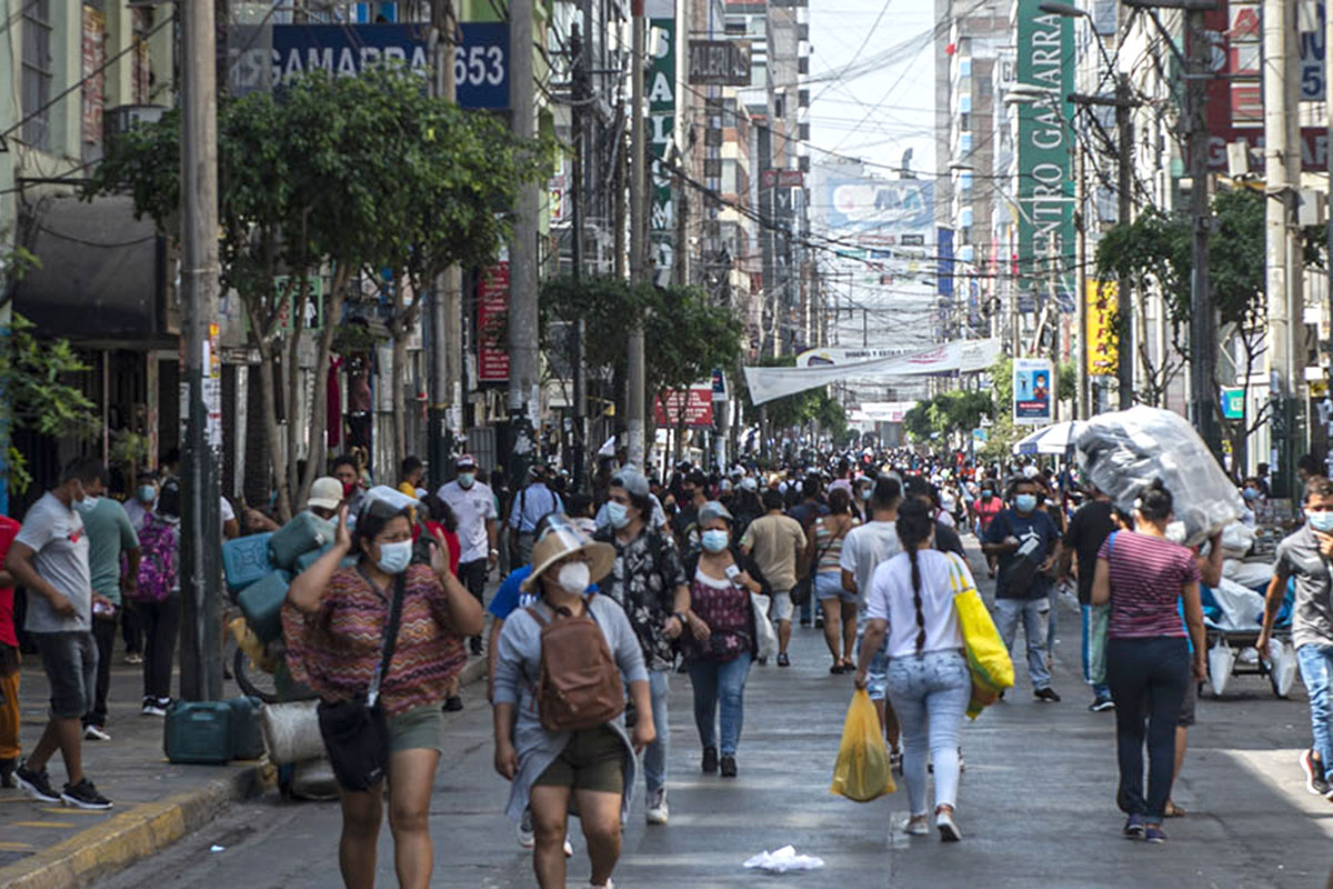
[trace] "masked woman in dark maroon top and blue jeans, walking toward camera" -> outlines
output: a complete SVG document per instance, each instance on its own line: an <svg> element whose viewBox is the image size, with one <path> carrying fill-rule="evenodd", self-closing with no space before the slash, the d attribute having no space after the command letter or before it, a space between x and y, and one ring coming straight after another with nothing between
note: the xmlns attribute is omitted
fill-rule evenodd
<svg viewBox="0 0 1333 889"><path fill-rule="evenodd" d="M742 570L744 557L732 540L732 514L709 501L698 510L702 550L685 560L690 578L688 633L681 636L689 684L694 689L694 726L704 748L704 774L721 766L724 778L736 777L736 748L741 740L745 680L757 652L750 593L760 584ZM718 705L721 705L721 758L718 758Z"/></svg>

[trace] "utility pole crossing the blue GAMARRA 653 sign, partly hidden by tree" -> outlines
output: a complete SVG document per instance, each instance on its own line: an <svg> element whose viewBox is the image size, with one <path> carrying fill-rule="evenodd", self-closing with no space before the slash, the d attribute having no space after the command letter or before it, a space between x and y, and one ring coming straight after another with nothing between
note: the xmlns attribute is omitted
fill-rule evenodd
<svg viewBox="0 0 1333 889"><path fill-rule="evenodd" d="M431 59L435 67L431 89L435 96L449 103L457 100L453 71L456 29L452 0L431 0ZM431 293L427 460L431 464L432 490L443 485L452 473L449 457L455 446L455 432L463 425L457 421L457 412L463 409L461 280L463 271L451 265L436 277Z"/></svg>

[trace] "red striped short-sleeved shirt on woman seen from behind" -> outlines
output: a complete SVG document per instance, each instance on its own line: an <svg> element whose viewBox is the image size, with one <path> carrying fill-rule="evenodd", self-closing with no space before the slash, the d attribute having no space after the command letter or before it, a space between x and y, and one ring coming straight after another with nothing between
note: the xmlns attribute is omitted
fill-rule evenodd
<svg viewBox="0 0 1333 889"><path fill-rule="evenodd" d="M1097 558L1110 564L1110 638L1185 636L1176 601L1185 584L1198 582L1189 549L1121 530L1106 537Z"/></svg>

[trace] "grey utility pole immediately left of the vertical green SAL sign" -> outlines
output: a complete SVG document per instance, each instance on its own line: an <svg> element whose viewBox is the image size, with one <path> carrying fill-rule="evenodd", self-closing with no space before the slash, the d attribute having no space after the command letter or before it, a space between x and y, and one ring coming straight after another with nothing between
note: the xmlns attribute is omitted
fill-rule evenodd
<svg viewBox="0 0 1333 889"><path fill-rule="evenodd" d="M633 0L633 41L631 44L631 103L629 109L629 281L644 285L648 281L647 251L644 241L648 235L644 161L648 143L644 139L644 48L648 43L648 20L644 17L644 0ZM629 431L629 461L647 472L644 464L647 425L647 373L644 368L644 327L641 319L632 319L628 348L628 385L625 395L625 427Z"/></svg>

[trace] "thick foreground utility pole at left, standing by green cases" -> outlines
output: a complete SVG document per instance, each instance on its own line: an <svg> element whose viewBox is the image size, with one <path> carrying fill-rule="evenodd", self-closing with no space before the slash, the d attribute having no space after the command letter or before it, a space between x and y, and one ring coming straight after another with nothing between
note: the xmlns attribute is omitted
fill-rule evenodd
<svg viewBox="0 0 1333 889"><path fill-rule="evenodd" d="M213 0L176 7L181 16L181 285L185 381L181 516L180 693L188 701L223 696L221 356L217 352L217 68Z"/></svg>

